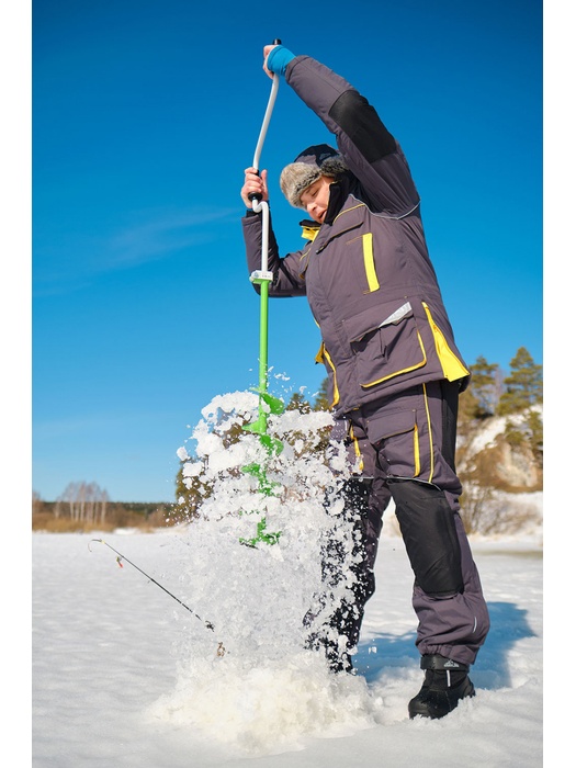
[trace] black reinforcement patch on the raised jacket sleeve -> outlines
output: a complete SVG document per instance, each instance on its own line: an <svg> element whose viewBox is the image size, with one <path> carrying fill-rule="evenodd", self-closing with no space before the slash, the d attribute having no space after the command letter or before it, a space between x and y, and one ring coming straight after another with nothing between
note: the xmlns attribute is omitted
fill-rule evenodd
<svg viewBox="0 0 576 768"><path fill-rule="evenodd" d="M335 101L329 114L369 162L375 162L396 150L394 136L380 120L376 110L358 91L345 91Z"/></svg>

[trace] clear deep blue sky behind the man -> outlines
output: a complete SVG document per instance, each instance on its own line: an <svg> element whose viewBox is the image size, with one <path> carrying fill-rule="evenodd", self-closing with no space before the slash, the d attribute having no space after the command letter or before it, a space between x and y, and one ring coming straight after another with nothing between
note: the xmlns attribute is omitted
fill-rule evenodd
<svg viewBox="0 0 576 768"><path fill-rule="evenodd" d="M403 145L468 362L542 363L542 20L534 0L266 5L35 0L32 26L33 488L172 501L176 451L218 394L258 384L259 298L239 189L281 37L346 77ZM331 137L281 82L278 177ZM270 302L271 388L324 379L305 300ZM275 377L278 376L278 379Z"/></svg>

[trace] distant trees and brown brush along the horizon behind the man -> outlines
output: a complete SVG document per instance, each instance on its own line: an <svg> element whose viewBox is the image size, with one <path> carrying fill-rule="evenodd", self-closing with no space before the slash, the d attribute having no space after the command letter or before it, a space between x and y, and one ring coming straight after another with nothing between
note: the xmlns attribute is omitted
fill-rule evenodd
<svg viewBox="0 0 576 768"><path fill-rule="evenodd" d="M521 461L535 467L538 479L530 489L541 487L543 466L543 379L542 365L537 365L524 347L521 347L510 361L509 374L504 375L497 363L489 363L484 357L477 358L470 366L471 381L460 397L459 409L459 474L468 488L464 501L475 511L468 512L465 524L468 531L479 530L478 519L484 515L487 501L495 489L512 489L498 475L501 464L502 442L508 451L520 455ZM325 379L314 400L307 400L301 392L290 396L286 408L306 415L316 410L329 410L328 380ZM474 439L482 426L497 417L505 418L505 430L500 442L474 453ZM229 443L239 439L241 426L230 430ZM296 440L298 436L293 436ZM329 440L329 429L324 439L306 447L306 450L323 452ZM184 462L176 477L176 504L112 502L106 490L95 483L69 483L54 502L43 501L33 493L34 520L52 519L59 521L58 529L65 527L88 530L92 527L114 526L171 526L193 519L211 488L201 477L184 477ZM526 489L526 488L521 488ZM479 510L479 511L478 511ZM476 519L474 519L476 518ZM36 526L38 527L38 526ZM54 526L52 526L54 528Z"/></svg>

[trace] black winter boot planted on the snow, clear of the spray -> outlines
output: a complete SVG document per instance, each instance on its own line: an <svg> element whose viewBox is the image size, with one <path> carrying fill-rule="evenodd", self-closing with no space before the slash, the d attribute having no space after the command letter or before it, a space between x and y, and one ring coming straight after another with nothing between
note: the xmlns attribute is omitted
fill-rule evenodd
<svg viewBox="0 0 576 768"><path fill-rule="evenodd" d="M420 668L426 669L426 676L419 693L408 704L410 718L443 718L458 707L461 699L476 693L467 664L440 654L425 654Z"/></svg>

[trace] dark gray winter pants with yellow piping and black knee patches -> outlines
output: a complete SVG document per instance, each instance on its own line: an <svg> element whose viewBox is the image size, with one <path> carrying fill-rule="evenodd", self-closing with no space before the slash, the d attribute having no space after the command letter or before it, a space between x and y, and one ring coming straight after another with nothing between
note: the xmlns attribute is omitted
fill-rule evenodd
<svg viewBox="0 0 576 768"><path fill-rule="evenodd" d="M389 494L395 501L415 575L420 654L474 664L489 617L460 517L462 486L454 467L459 389L458 382L448 381L418 385L348 416L363 474L373 477L370 516L382 517ZM380 528L365 528L365 574L373 572ZM371 584L360 602L373 589ZM361 617L364 605L360 608Z"/></svg>

